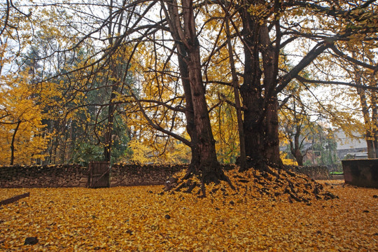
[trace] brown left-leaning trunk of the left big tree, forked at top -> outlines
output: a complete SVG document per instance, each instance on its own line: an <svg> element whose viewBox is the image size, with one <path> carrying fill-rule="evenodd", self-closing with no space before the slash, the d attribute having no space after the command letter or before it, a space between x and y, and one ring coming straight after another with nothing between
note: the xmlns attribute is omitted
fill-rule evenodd
<svg viewBox="0 0 378 252"><path fill-rule="evenodd" d="M181 24L179 5L176 0L168 3L168 8L165 11L168 16L169 29L179 49L179 67L187 99L187 129L190 137L193 137L192 146L190 146L193 151L193 165L190 167L190 172L201 175L202 183L218 182L220 179L227 180L216 158L215 140L211 132L202 81L200 43L195 29L193 1L183 0L181 3L183 24ZM191 106L193 106L193 113L190 111Z"/></svg>

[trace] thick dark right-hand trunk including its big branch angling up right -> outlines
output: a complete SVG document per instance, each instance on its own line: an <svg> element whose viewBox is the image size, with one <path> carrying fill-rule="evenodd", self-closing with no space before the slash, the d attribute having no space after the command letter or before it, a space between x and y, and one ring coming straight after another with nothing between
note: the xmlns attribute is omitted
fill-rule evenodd
<svg viewBox="0 0 378 252"><path fill-rule="evenodd" d="M279 13L281 7L278 1L274 8ZM238 11L243 22L241 41L244 43L244 83L240 92L246 108L246 155L253 160L250 162L253 166L261 163L262 167L266 167L267 163L281 166L277 94L318 55L330 48L332 39L316 44L293 69L279 78L281 26L278 14L271 24L275 28L275 38L272 41L264 18L251 15L248 4Z"/></svg>

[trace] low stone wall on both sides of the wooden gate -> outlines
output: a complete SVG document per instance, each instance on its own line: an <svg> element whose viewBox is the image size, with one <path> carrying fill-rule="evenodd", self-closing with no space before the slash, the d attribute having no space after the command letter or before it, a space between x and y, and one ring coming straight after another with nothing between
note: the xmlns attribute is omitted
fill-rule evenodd
<svg viewBox="0 0 378 252"><path fill-rule="evenodd" d="M163 185L186 165L113 165L111 186ZM0 167L0 188L86 187L88 169L80 165Z"/></svg>

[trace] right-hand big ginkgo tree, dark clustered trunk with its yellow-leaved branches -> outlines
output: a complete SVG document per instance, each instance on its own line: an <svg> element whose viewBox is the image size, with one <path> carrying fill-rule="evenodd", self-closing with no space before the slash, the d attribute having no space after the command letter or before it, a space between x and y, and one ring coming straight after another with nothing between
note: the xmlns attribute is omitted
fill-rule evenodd
<svg viewBox="0 0 378 252"><path fill-rule="evenodd" d="M235 37L244 46L240 91L248 156L279 163L277 94L294 78L305 79L302 71L330 50L338 50L344 43L371 41L377 34L377 6L373 2L232 2L235 12L228 10L228 15L232 16ZM228 6L224 4L223 9ZM285 66L280 59L290 45L300 45L297 53L301 57L295 59L297 64Z"/></svg>

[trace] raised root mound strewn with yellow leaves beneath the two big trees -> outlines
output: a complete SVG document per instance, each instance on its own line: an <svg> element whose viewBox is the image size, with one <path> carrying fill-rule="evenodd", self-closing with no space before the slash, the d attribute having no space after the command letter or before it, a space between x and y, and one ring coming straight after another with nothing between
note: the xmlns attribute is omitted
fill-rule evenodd
<svg viewBox="0 0 378 252"><path fill-rule="evenodd" d="M202 183L200 176L188 176L185 171L175 174L165 183L165 193L195 194L199 197L234 198L243 202L251 198L272 201L304 202L332 200L336 195L326 191L320 183L290 169L267 167L238 172L237 167L225 171L228 180Z"/></svg>

